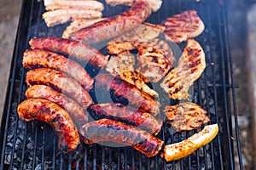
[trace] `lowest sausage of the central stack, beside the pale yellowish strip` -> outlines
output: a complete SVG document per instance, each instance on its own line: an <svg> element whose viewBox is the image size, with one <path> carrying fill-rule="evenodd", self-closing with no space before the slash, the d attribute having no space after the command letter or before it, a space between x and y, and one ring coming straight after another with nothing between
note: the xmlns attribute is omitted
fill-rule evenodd
<svg viewBox="0 0 256 170"><path fill-rule="evenodd" d="M126 144L148 157L156 156L164 144L146 131L110 119L89 122L81 127L80 132L85 144L102 141Z"/></svg>

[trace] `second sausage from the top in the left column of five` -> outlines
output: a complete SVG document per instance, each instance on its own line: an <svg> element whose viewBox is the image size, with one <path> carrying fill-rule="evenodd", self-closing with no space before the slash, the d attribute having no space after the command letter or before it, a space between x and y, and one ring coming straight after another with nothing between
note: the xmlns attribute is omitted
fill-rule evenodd
<svg viewBox="0 0 256 170"><path fill-rule="evenodd" d="M22 64L26 68L46 67L57 71L63 71L70 77L73 77L87 90L93 86L93 79L81 65L59 54L44 51L42 49L27 49L23 54Z"/></svg>

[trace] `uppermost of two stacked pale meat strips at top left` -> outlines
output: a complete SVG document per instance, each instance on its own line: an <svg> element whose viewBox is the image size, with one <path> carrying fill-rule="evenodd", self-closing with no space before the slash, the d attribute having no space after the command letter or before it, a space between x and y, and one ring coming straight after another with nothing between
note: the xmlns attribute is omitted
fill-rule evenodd
<svg viewBox="0 0 256 170"><path fill-rule="evenodd" d="M60 8L76 8L102 11L104 9L103 3L91 0L44 0L44 6L46 10L55 10Z"/></svg>

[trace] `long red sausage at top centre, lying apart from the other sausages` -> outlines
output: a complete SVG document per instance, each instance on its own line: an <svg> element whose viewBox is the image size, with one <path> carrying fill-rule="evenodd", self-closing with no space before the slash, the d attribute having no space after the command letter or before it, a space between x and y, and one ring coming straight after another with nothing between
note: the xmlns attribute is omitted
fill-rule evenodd
<svg viewBox="0 0 256 170"><path fill-rule="evenodd" d="M147 2L137 0L133 6L122 14L96 22L71 34L71 39L84 43L98 43L117 37L125 31L142 24L151 14Z"/></svg>

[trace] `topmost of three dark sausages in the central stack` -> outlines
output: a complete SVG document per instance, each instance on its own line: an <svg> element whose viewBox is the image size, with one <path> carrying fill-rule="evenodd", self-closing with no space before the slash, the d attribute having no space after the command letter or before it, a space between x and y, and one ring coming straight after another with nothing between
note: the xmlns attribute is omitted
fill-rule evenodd
<svg viewBox="0 0 256 170"><path fill-rule="evenodd" d="M109 92L113 99L120 103L128 100L129 104L141 107L144 111L148 111L154 116L160 112L160 102L152 99L149 94L119 77L98 74L95 77L95 89L97 88L102 89L103 92Z"/></svg>

